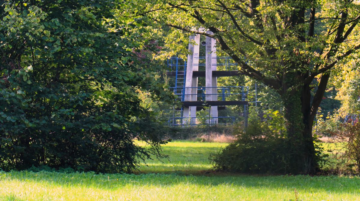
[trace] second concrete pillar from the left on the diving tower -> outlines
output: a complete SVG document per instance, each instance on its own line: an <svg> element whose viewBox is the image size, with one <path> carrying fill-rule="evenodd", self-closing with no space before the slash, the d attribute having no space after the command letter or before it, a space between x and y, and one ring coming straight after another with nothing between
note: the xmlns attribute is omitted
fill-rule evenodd
<svg viewBox="0 0 360 201"><path fill-rule="evenodd" d="M194 57L193 57L193 72L199 70L199 45L200 45L200 35L195 35L195 45L194 45ZM198 77L192 78L192 87L198 86ZM191 101L197 101L197 88L192 88ZM196 124L196 106L190 106L190 117L191 123Z"/></svg>

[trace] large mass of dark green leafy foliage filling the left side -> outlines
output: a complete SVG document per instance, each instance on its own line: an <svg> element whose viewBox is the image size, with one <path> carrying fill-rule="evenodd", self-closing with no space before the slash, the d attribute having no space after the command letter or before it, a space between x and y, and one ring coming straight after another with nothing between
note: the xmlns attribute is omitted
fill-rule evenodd
<svg viewBox="0 0 360 201"><path fill-rule="evenodd" d="M138 91L165 93L134 52L137 22L115 20L117 1L32 2L0 6L0 168L130 172L159 155L164 129Z"/></svg>

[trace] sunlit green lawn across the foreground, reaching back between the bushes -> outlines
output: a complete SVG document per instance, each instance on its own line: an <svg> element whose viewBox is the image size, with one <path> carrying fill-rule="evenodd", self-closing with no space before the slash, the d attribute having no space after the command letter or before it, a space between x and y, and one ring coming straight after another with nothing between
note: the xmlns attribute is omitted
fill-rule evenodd
<svg viewBox="0 0 360 201"><path fill-rule="evenodd" d="M164 146L170 161L149 161L138 174L0 172L0 201L289 201L294 189L299 201L360 200L359 177L203 173L210 169L208 154L225 145L170 142Z"/></svg>

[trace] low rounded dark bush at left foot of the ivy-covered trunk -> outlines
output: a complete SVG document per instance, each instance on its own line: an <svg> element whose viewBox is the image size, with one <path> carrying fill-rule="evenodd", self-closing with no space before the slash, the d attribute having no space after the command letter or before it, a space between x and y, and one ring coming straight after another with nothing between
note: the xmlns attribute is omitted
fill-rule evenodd
<svg viewBox="0 0 360 201"><path fill-rule="evenodd" d="M237 140L211 157L218 170L242 173L284 173L289 160L285 138L251 125L247 132L235 130ZM255 129L256 128L256 129Z"/></svg>

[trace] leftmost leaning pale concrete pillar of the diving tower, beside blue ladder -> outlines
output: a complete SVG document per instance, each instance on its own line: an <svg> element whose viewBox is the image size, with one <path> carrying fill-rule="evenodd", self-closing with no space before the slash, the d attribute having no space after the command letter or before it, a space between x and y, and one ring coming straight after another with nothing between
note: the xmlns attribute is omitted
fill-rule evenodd
<svg viewBox="0 0 360 201"><path fill-rule="evenodd" d="M186 75L185 75L185 95L184 101L191 101L191 86L192 86L192 78L193 78L193 61L194 61L194 45L192 42L195 39L195 35L191 35L189 37L189 54L188 54L188 62L186 63ZM183 124L188 122L190 108L185 108L183 110Z"/></svg>

